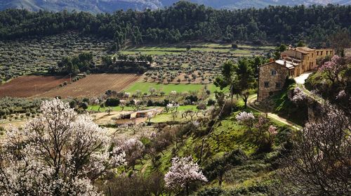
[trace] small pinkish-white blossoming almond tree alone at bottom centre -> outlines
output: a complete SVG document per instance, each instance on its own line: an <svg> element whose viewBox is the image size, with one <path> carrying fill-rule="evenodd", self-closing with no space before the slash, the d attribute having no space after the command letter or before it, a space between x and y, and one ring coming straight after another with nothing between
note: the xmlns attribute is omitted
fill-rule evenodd
<svg viewBox="0 0 351 196"><path fill-rule="evenodd" d="M174 157L172 166L164 176L166 187L172 190L185 189L189 195L189 188L192 183L206 182L207 178L200 171L197 163L192 161L192 157Z"/></svg>

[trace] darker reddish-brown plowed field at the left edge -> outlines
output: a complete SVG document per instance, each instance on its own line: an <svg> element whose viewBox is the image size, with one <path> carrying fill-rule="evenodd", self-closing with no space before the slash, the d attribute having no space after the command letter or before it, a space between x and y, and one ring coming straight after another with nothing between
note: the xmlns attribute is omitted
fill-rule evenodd
<svg viewBox="0 0 351 196"><path fill-rule="evenodd" d="M23 76L0 85L0 97L31 97L55 89L69 77Z"/></svg>

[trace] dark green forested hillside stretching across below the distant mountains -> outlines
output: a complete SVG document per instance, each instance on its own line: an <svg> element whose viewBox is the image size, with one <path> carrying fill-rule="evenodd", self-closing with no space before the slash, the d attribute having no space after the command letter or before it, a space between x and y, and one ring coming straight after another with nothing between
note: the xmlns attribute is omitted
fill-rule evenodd
<svg viewBox="0 0 351 196"><path fill-rule="evenodd" d="M179 2L157 11L0 12L0 39L46 36L68 30L114 39L117 48L127 39L133 44L180 41L297 42L329 45L338 29L351 31L351 6L270 6L236 11L214 10Z"/></svg>

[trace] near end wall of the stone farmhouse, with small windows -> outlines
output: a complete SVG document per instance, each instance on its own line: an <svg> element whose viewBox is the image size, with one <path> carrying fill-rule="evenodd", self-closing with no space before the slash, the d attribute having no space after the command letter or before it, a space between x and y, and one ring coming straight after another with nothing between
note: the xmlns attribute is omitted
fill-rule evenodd
<svg viewBox="0 0 351 196"><path fill-rule="evenodd" d="M276 70L277 74L272 75L272 70ZM277 91L281 91L288 76L289 70L283 65L275 62L261 65L258 77L258 101L267 98ZM265 86L265 82L268 82L268 86ZM277 83L280 83L280 87L276 86Z"/></svg>

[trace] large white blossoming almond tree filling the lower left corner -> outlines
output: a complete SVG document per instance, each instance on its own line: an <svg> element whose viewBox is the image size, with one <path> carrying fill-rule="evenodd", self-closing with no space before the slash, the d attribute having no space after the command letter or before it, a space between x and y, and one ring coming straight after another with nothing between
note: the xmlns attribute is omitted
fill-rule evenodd
<svg viewBox="0 0 351 196"><path fill-rule="evenodd" d="M100 195L92 182L124 164L105 129L55 99L22 130L7 131L0 151L0 195Z"/></svg>

